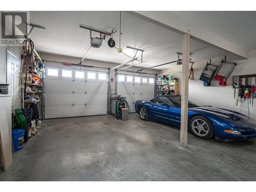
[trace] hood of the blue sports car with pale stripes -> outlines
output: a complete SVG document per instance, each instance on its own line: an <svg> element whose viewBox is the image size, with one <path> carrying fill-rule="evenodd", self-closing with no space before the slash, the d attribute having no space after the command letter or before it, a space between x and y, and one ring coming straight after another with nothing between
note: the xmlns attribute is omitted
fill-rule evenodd
<svg viewBox="0 0 256 192"><path fill-rule="evenodd" d="M212 106L200 106L197 108L189 108L189 110L200 111L202 113L218 116L222 119L225 119L229 123L232 123L236 127L251 127L252 129L255 129L254 127L256 127L255 120L237 111L214 108Z"/></svg>

